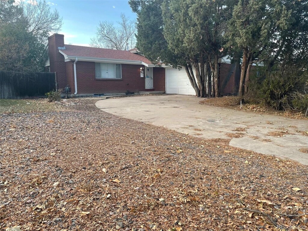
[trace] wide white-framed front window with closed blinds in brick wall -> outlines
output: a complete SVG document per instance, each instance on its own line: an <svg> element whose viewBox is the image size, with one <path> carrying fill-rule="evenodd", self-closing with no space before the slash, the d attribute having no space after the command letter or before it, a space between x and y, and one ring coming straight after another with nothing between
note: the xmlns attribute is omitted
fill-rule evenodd
<svg viewBox="0 0 308 231"><path fill-rule="evenodd" d="M95 63L95 78L121 79L121 64L117 63Z"/></svg>

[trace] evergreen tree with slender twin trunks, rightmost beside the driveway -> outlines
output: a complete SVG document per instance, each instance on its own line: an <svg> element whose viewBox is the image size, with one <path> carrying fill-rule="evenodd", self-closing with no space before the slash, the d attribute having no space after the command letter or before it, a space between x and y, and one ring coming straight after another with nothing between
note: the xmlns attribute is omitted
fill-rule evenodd
<svg viewBox="0 0 308 231"><path fill-rule="evenodd" d="M241 50L242 65L238 95L247 93L253 62L263 61L260 55L274 42L274 34L290 26L290 11L278 0L240 0L228 21L227 47ZM269 55L267 53L266 55Z"/></svg>

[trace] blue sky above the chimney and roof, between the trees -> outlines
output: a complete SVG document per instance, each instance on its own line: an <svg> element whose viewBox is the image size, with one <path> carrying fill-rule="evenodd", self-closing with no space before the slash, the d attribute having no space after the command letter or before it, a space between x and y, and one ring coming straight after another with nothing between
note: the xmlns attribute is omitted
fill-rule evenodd
<svg viewBox="0 0 308 231"><path fill-rule="evenodd" d="M57 9L63 17L59 34L64 34L65 44L88 46L95 36L99 21L120 21L124 13L135 19L128 1L125 0L47 0L51 10Z"/></svg>

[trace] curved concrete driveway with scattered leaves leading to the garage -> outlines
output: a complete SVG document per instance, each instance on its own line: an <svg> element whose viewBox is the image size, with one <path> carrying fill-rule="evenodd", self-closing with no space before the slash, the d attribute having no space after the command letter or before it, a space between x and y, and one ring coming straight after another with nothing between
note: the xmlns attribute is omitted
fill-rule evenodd
<svg viewBox="0 0 308 231"><path fill-rule="evenodd" d="M308 154L299 151L308 148L308 136L303 135L308 130L307 120L201 105L199 101L188 95L136 96L99 100L96 106L120 117L205 139L230 139L231 146L308 165Z"/></svg>

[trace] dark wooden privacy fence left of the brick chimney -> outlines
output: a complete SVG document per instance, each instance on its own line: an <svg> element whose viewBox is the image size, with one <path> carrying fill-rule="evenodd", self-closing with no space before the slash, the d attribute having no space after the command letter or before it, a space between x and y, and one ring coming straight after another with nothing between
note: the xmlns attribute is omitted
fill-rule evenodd
<svg viewBox="0 0 308 231"><path fill-rule="evenodd" d="M0 99L40 97L55 90L55 72L0 71Z"/></svg>

